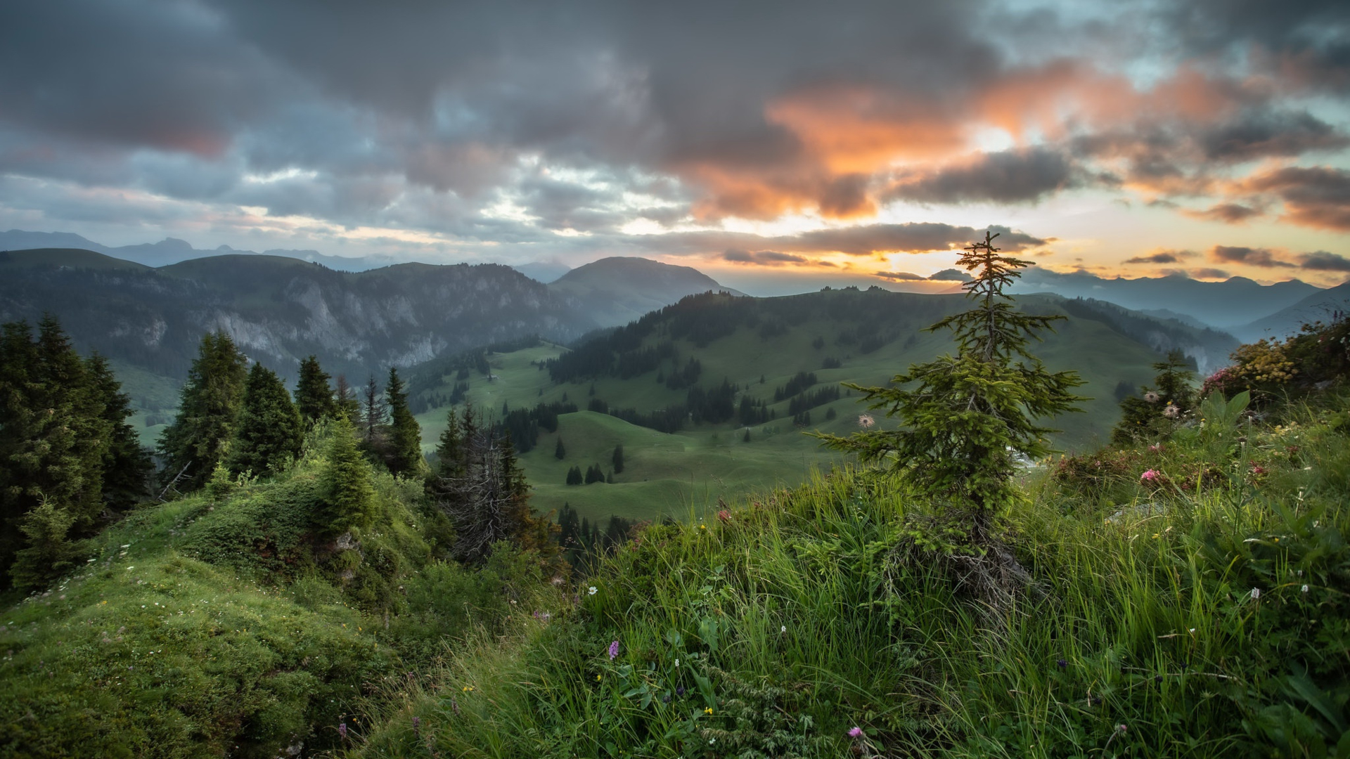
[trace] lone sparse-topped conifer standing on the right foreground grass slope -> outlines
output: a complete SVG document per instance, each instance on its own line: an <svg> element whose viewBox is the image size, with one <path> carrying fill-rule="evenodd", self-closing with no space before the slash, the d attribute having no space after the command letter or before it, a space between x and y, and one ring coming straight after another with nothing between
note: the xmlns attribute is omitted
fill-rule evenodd
<svg viewBox="0 0 1350 759"><path fill-rule="evenodd" d="M991 542L995 515L1015 497L1014 455L1050 452L1046 435L1053 429L1037 419L1079 411L1075 404L1084 400L1071 393L1083 384L1076 373L1052 373L1027 350L1037 332L1064 317L1013 307L1003 289L1029 262L999 255L995 236L986 232L957 262L973 271L963 288L975 308L927 328L952 330L957 355L911 365L888 388L848 385L864 393L869 408L898 417L900 428L821 435L863 461L887 461L976 547Z"/></svg>

